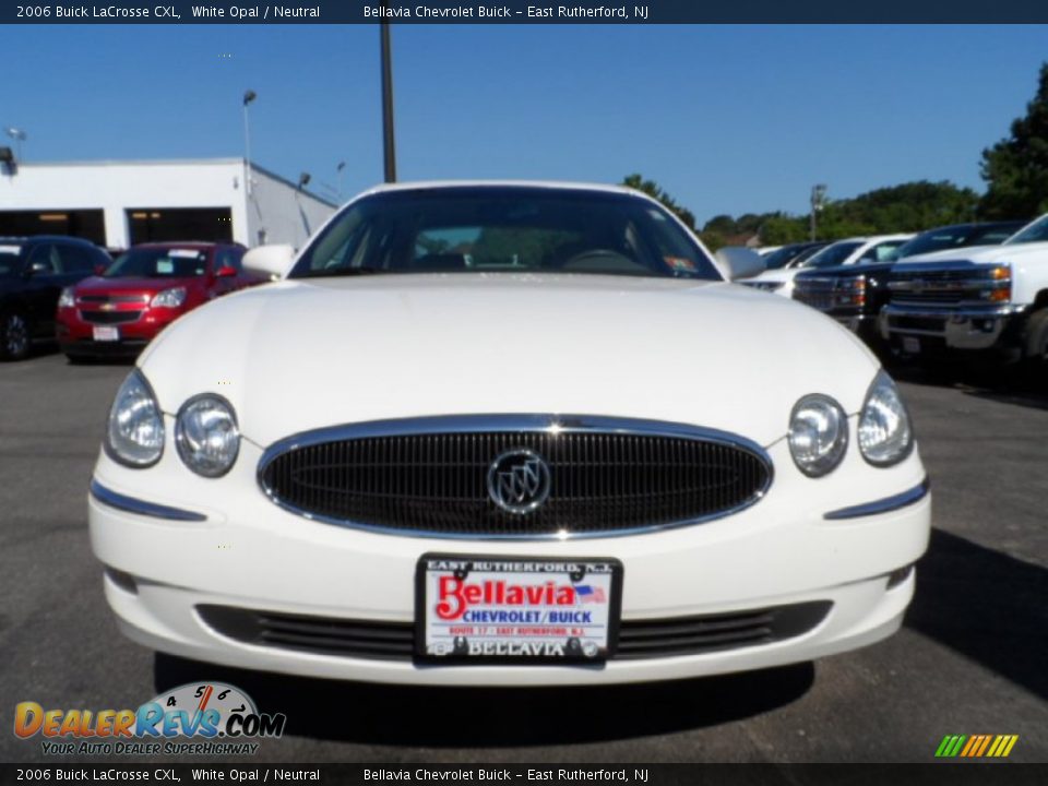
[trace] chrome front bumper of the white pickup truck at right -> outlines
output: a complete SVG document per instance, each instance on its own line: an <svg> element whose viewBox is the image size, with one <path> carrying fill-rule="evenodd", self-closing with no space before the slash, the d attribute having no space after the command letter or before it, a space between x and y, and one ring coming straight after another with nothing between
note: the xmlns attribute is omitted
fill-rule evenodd
<svg viewBox="0 0 1048 786"><path fill-rule="evenodd" d="M1025 307L951 309L890 303L881 310L881 336L891 341L904 336L930 338L950 349L1004 348L1017 333Z"/></svg>

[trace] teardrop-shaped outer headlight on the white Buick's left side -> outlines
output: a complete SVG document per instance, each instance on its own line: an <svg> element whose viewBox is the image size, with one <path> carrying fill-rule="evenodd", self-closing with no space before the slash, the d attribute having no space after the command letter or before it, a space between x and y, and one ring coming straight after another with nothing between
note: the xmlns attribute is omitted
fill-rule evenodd
<svg viewBox="0 0 1048 786"><path fill-rule="evenodd" d="M109 409L105 448L114 461L136 468L156 464L164 453L164 414L138 369L117 391Z"/></svg>

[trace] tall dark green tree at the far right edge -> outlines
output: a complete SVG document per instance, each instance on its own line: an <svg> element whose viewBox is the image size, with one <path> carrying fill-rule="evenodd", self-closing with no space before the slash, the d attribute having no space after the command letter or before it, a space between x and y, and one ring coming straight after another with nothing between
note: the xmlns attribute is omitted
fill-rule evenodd
<svg viewBox="0 0 1048 786"><path fill-rule="evenodd" d="M987 191L979 213L987 218L1032 218L1048 212L1048 62L1037 94L1011 135L982 151Z"/></svg>

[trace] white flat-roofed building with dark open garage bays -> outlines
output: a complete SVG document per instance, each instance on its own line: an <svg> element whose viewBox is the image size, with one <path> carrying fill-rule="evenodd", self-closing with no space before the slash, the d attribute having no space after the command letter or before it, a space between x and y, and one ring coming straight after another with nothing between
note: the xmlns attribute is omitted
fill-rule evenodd
<svg viewBox="0 0 1048 786"><path fill-rule="evenodd" d="M15 164L0 169L0 237L75 235L108 248L236 240L299 248L336 205L242 158Z"/></svg>

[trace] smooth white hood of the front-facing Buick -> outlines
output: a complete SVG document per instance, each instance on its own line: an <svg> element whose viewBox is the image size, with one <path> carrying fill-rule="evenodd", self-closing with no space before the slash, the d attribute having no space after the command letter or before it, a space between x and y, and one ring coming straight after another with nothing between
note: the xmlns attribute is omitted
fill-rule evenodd
<svg viewBox="0 0 1048 786"><path fill-rule="evenodd" d="M140 358L160 407L214 392L260 445L348 422L579 414L781 439L877 360L832 320L720 282L436 274L288 281L183 317Z"/></svg>

